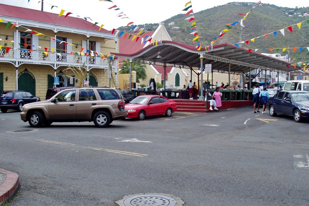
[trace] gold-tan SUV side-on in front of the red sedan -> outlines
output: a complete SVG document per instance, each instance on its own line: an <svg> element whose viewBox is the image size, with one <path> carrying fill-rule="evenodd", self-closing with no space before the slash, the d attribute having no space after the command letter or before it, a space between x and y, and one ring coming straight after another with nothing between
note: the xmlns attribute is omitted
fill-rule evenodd
<svg viewBox="0 0 309 206"><path fill-rule="evenodd" d="M53 122L94 122L106 127L113 120L128 116L122 95L108 87L65 89L49 100L23 106L20 118L31 127L48 126Z"/></svg>

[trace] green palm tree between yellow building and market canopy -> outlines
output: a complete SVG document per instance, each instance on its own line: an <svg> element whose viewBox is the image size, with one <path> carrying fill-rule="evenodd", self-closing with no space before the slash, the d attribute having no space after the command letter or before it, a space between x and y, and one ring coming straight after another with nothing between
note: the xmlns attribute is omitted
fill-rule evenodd
<svg viewBox="0 0 309 206"><path fill-rule="evenodd" d="M122 60L120 63L121 65L121 70L119 71L120 74L129 74L130 73L130 60ZM146 75L146 65L142 64L139 60L134 60L133 65L132 65L132 71L136 71L136 81L138 83L139 79L145 80L147 78Z"/></svg>

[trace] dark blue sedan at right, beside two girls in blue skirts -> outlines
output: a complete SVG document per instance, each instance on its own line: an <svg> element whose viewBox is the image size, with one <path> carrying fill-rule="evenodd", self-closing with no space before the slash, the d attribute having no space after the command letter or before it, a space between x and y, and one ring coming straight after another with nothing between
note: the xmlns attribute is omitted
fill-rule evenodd
<svg viewBox="0 0 309 206"><path fill-rule="evenodd" d="M295 122L309 117L309 92L281 91L267 100L270 116L277 114L293 116Z"/></svg>

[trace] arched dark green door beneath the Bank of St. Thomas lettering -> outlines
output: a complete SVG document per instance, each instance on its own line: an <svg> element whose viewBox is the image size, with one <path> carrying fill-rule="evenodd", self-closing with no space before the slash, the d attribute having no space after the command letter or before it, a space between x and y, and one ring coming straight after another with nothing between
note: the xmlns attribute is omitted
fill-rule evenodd
<svg viewBox="0 0 309 206"><path fill-rule="evenodd" d="M18 75L18 90L25 90L32 95L36 95L36 79L27 69Z"/></svg>

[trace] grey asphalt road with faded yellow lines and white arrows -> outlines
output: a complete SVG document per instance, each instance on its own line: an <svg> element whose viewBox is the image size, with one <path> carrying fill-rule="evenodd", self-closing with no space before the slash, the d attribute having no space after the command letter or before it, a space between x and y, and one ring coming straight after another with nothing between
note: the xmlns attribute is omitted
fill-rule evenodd
<svg viewBox="0 0 309 206"><path fill-rule="evenodd" d="M309 205L308 122L218 113L53 123L32 132L0 113L0 168L20 176L15 205L111 205L165 193L185 205Z"/></svg>

